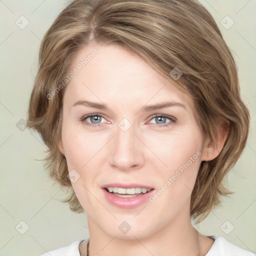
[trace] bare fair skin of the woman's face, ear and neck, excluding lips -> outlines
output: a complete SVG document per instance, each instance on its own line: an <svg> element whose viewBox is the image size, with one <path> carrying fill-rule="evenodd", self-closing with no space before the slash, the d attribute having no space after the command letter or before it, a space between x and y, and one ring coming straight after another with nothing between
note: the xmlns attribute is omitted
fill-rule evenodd
<svg viewBox="0 0 256 256"><path fill-rule="evenodd" d="M204 141L192 98L176 88L171 78L167 80L120 46L87 46L71 68L94 48L98 54L71 79L64 92L58 142L68 170L75 169L80 175L72 187L87 214L89 255L205 255L213 239L199 234L191 224L191 191L200 162L218 155L226 134L219 130L216 148ZM108 108L73 106L78 100L104 103ZM171 100L184 107L140 110L144 105ZM101 120L99 116L98 121L89 117L81 120L95 113L101 114ZM172 116L176 122L168 118L157 122L155 114ZM124 117L131 124L127 131L118 127ZM85 124L92 122L101 126ZM162 123L170 125L161 128ZM110 182L160 189L197 151L198 158L154 202L123 209L105 200L100 187ZM125 234L118 228L123 221L131 226ZM85 242L79 250L86 255Z"/></svg>

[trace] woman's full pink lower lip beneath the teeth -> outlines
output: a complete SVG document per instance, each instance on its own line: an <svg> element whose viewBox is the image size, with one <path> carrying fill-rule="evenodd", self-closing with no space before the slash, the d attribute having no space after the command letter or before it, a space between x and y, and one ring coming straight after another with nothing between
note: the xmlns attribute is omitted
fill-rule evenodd
<svg viewBox="0 0 256 256"><path fill-rule="evenodd" d="M113 204L114 206L130 209L135 208L142 203L146 202L148 200L148 197L154 193L154 189L151 189L149 192L136 195L133 197L120 197L117 195L114 195L112 193L107 192L104 188L102 188L104 196L108 202Z"/></svg>

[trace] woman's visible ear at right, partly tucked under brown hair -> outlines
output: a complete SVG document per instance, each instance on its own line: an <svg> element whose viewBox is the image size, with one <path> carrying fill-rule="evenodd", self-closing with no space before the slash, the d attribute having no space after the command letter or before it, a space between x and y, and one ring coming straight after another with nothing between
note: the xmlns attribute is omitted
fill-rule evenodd
<svg viewBox="0 0 256 256"><path fill-rule="evenodd" d="M229 121L224 120L216 125L217 138L216 143L213 141L206 141L202 150L201 161L210 161L218 156L222 150L226 137L229 132Z"/></svg>

